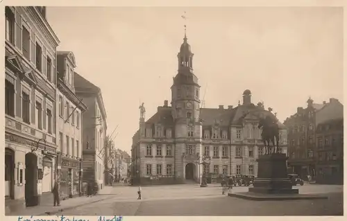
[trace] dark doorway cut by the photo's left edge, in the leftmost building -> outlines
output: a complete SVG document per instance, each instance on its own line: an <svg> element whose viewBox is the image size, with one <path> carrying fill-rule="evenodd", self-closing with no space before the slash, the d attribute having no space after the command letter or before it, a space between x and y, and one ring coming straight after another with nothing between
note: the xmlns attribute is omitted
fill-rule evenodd
<svg viewBox="0 0 347 221"><path fill-rule="evenodd" d="M5 197L14 198L15 151L5 148Z"/></svg>

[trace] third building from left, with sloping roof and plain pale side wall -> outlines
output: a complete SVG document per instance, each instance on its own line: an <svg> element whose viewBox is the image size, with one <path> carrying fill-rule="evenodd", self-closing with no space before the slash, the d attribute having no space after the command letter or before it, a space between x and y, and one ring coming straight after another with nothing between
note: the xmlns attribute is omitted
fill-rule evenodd
<svg viewBox="0 0 347 221"><path fill-rule="evenodd" d="M74 72L76 94L87 106L82 115L83 121L83 171L92 170L92 177L83 176L83 180L95 179L99 188L103 188L105 179L105 137L107 132L106 110L103 105L101 89Z"/></svg>

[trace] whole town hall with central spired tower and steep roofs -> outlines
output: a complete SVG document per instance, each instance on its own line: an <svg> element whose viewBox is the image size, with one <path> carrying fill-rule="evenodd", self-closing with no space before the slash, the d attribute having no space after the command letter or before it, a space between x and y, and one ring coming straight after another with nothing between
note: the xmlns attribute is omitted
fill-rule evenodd
<svg viewBox="0 0 347 221"><path fill-rule="evenodd" d="M178 74L168 100L149 120L144 109L131 151L133 184L198 182L201 175L257 175L262 154L260 117L275 116L262 103L251 102L251 91L237 107L201 108L200 86L193 72L187 37L178 53ZM287 153L287 130L280 125L280 147ZM204 156L210 164L201 164Z"/></svg>

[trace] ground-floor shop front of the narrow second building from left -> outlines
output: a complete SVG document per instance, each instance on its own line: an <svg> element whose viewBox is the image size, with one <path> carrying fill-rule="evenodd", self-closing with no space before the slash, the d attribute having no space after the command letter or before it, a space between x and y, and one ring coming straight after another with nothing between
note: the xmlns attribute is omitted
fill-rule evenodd
<svg viewBox="0 0 347 221"><path fill-rule="evenodd" d="M80 194L81 160L61 157L60 197L67 199Z"/></svg>

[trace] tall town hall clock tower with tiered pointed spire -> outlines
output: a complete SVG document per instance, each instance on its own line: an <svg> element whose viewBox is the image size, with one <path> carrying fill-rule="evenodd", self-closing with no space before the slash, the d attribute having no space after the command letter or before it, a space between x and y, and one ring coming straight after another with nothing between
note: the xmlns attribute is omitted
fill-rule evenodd
<svg viewBox="0 0 347 221"><path fill-rule="evenodd" d="M184 182L187 155L194 159L201 153L202 127L200 122L200 85L193 71L193 56L187 36L180 46L178 73L171 86L171 108L175 122L175 174ZM194 161L194 160L192 160ZM191 162L194 163L194 162ZM198 164L194 163L194 180L198 181ZM192 167L192 165L190 165ZM192 178L192 175L190 175Z"/></svg>

